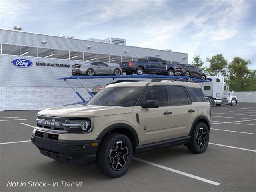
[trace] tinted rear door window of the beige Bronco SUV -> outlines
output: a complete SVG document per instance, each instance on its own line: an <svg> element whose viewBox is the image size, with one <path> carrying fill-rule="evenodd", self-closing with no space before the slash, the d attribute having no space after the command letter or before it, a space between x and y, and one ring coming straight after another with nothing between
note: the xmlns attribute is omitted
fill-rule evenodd
<svg viewBox="0 0 256 192"><path fill-rule="evenodd" d="M188 105L188 96L183 87L170 86L169 88L172 96L172 105Z"/></svg>

